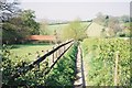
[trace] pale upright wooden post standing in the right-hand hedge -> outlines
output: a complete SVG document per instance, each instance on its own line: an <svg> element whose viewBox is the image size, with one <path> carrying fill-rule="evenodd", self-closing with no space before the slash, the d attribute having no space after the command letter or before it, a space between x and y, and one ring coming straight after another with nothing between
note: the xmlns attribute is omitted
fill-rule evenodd
<svg viewBox="0 0 132 88"><path fill-rule="evenodd" d="M119 62L119 51L116 52L116 67L114 67L114 86L118 86L118 62Z"/></svg>

